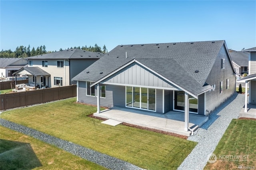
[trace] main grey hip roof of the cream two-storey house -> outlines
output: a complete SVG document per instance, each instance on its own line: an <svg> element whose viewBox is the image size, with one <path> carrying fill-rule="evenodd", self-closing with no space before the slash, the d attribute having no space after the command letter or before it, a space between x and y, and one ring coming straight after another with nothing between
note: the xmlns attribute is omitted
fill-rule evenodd
<svg viewBox="0 0 256 170"><path fill-rule="evenodd" d="M62 51L27 57L27 59L90 59L101 58L104 54L82 49L65 49Z"/></svg>

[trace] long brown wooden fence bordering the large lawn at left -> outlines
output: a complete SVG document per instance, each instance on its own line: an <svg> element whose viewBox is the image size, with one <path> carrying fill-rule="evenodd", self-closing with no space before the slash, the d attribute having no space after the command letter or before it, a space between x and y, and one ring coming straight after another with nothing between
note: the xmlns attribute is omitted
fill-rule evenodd
<svg viewBox="0 0 256 170"><path fill-rule="evenodd" d="M0 110L76 97L76 85L0 94Z"/></svg>

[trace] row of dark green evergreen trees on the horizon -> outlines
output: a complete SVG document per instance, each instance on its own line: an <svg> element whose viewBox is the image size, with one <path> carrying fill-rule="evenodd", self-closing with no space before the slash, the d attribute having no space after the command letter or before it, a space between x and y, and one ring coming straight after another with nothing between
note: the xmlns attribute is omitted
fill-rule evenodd
<svg viewBox="0 0 256 170"><path fill-rule="evenodd" d="M97 44L95 44L94 47L92 47L92 46L87 47L87 45L82 46L82 47L80 47L80 46L70 47L70 49L74 49L74 48L78 48L78 49L82 49L82 50L86 50L86 51L92 51L92 52L100 52L100 53L108 52L105 45L101 49L101 47L98 46ZM62 50L62 48L60 48L60 51L61 50ZM52 53L52 52L56 52L56 50L55 51L46 51L45 45L41 45L40 47L38 46L36 49L33 47L31 50L30 50L30 45L28 45L28 47L20 45L20 47L16 47L15 51L12 51L11 49L8 49L8 50L2 49L2 51L0 51L0 58L13 58L13 57L26 58L26 57L42 55L42 54Z"/></svg>

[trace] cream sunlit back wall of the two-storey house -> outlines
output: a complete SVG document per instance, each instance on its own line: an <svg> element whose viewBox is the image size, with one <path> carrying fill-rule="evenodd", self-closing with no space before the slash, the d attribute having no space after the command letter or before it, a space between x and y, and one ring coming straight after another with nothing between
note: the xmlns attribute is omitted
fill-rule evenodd
<svg viewBox="0 0 256 170"><path fill-rule="evenodd" d="M67 60L64 61L64 59L31 59L31 60L33 61L33 66L29 66L29 67L39 67L51 75L50 77L51 84L49 83L49 87L58 87L58 85L54 85L54 77L62 77L62 86L70 85L69 61ZM42 67L42 61L47 61L48 67ZM63 61L64 64L66 65L64 65L64 67L57 67L57 61Z"/></svg>

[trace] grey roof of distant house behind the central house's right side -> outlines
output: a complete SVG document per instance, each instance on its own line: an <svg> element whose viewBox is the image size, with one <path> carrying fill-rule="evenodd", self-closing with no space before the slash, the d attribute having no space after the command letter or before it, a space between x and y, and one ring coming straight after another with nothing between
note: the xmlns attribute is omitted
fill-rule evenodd
<svg viewBox="0 0 256 170"><path fill-rule="evenodd" d="M245 51L230 51L230 57L232 61L236 64L241 66L248 66L249 65L249 52Z"/></svg>

